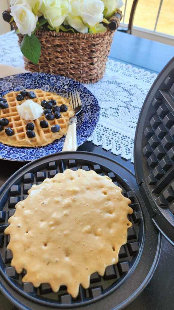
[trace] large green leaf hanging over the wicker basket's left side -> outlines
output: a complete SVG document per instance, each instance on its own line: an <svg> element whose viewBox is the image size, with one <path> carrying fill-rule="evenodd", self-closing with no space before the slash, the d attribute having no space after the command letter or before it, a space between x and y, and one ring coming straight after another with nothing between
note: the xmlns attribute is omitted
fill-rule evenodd
<svg viewBox="0 0 174 310"><path fill-rule="evenodd" d="M37 64L40 57L41 46L39 39L32 34L31 37L25 34L21 43L21 52L28 58L33 64Z"/></svg>

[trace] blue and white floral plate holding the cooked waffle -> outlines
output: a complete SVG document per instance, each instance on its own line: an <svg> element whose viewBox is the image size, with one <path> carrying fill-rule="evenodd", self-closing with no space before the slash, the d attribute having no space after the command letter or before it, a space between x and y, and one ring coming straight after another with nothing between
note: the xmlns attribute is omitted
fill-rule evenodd
<svg viewBox="0 0 174 310"><path fill-rule="evenodd" d="M99 121L100 107L91 92L81 83L48 73L21 73L0 79L0 95L22 88L42 89L68 98L70 91L78 90L83 109L78 115L77 146L83 144L93 133ZM0 143L0 158L14 161L32 161L48 154L61 152L65 136L40 148L12 147Z"/></svg>

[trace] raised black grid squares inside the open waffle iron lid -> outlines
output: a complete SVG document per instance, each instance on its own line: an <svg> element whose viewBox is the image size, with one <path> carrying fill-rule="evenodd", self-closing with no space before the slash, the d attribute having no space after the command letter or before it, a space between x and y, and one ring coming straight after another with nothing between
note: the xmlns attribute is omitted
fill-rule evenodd
<svg viewBox="0 0 174 310"><path fill-rule="evenodd" d="M169 84L172 89L174 84ZM171 211L174 202L174 192L171 190L174 175L174 111L171 108L173 97L170 90L162 90L160 93L161 98L155 98L152 102L156 111L151 117L151 126L144 130L147 144L142 151L150 169L146 181L151 185L151 192L156 194L155 202Z"/></svg>

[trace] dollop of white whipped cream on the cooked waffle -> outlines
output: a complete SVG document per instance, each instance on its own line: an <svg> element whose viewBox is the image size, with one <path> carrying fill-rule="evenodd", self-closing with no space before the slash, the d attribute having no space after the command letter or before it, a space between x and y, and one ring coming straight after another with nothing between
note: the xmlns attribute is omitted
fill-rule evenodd
<svg viewBox="0 0 174 310"><path fill-rule="evenodd" d="M40 104L31 99L26 100L21 105L18 105L17 111L19 116L25 120L35 120L44 114L44 110Z"/></svg>

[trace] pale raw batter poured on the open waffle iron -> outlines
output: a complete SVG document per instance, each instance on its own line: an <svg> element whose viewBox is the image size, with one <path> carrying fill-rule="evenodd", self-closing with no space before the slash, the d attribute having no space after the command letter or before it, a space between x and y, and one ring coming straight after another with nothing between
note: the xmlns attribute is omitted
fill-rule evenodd
<svg viewBox="0 0 174 310"><path fill-rule="evenodd" d="M76 297L79 284L88 288L93 272L103 276L118 262L132 226L131 201L121 192L108 176L82 169L33 185L5 230L11 265L18 273L27 271L23 282L49 283L54 292L66 285Z"/></svg>

